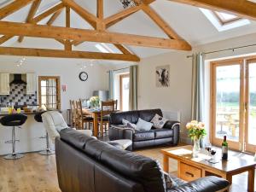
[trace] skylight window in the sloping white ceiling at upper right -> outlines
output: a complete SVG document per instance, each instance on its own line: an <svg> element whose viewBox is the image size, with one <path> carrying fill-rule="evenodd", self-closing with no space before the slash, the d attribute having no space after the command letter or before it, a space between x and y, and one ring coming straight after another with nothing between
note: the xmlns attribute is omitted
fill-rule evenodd
<svg viewBox="0 0 256 192"><path fill-rule="evenodd" d="M212 25L218 29L218 32L227 31L251 23L250 20L242 19L236 15L225 14L209 9L200 9L201 12L206 15L207 19L212 22Z"/></svg>

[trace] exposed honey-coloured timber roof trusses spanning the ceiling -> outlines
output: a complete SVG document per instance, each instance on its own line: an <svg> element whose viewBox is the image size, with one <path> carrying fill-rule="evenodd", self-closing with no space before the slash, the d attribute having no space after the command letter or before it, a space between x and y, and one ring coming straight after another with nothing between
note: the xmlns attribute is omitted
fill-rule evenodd
<svg viewBox="0 0 256 192"><path fill-rule="evenodd" d="M73 0L61 0L54 7L36 15L40 3L44 0L15 0L0 9L0 20L15 11L32 3L31 9L26 17L26 23L0 21L0 44L3 44L10 38L19 36L18 41L21 43L24 37L34 38L53 38L63 44L64 49L29 49L29 48L11 48L0 47L0 55L27 55L27 56L45 56L45 57L66 57L66 58L89 58L102 60L121 60L121 61L140 61L140 58L125 48L123 44L136 45L144 47L155 47L163 49L191 50L191 46L179 37L171 26L150 7L150 3L155 0L135 0L137 6L124 9L117 14L104 17L103 0L97 1L96 15L79 6ZM221 10L224 12L234 12L241 17L256 19L256 3L246 0L223 1L223 0L172 0L177 3L186 3L207 9ZM55 19L65 9L66 26L52 26ZM70 27L70 10L73 9L78 15L86 20L93 30L76 29ZM130 15L142 10L160 29L166 33L168 38L155 38L141 35L131 35L119 32L108 32L108 28L118 23ZM36 16L35 16L36 15ZM38 25L40 20L44 20L49 15L50 18L46 25ZM136 27L136 26L135 26ZM74 51L73 46L84 42L100 42L113 44L122 54L99 53Z"/></svg>

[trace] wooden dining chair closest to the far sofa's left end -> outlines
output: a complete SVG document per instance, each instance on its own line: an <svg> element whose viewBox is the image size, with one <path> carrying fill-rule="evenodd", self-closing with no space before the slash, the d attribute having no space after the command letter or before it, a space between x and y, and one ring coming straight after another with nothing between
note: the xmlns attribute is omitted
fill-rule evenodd
<svg viewBox="0 0 256 192"><path fill-rule="evenodd" d="M103 137L103 125L105 127L105 132L107 132L107 125L109 125L109 114L117 110L117 100L102 102L102 109L100 115L101 124L101 134Z"/></svg>

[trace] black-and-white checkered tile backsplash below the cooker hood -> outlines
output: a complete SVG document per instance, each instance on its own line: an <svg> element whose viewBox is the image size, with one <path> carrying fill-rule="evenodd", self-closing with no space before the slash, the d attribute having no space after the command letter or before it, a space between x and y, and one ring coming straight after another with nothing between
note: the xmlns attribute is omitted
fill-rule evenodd
<svg viewBox="0 0 256 192"><path fill-rule="evenodd" d="M2 97L2 105L7 105L13 102L15 106L37 105L37 92L32 95L26 95L26 84L11 84L9 96Z"/></svg>

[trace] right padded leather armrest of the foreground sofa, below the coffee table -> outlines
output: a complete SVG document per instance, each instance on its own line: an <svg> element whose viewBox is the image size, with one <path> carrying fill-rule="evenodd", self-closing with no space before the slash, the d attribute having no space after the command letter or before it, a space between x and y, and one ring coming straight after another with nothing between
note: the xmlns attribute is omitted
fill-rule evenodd
<svg viewBox="0 0 256 192"><path fill-rule="evenodd" d="M202 177L195 181L185 183L167 192L217 192L228 190L230 183L220 177Z"/></svg>

